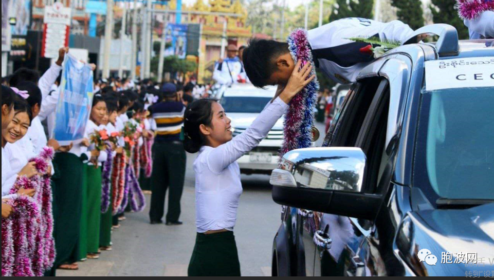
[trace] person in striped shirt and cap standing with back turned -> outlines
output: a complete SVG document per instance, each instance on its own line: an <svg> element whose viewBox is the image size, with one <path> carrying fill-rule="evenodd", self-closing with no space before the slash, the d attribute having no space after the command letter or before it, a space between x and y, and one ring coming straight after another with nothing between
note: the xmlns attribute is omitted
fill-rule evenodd
<svg viewBox="0 0 494 280"><path fill-rule="evenodd" d="M180 141L185 106L178 99L177 87L167 83L161 88L162 100L150 107L156 132L151 175L151 224L162 224L164 197L169 189L166 225L181 225L180 198L184 189L186 153Z"/></svg>

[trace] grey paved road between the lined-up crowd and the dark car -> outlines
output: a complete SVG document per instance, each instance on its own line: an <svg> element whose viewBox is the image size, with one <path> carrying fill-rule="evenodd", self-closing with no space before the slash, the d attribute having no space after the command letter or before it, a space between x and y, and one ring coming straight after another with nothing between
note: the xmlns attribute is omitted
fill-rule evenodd
<svg viewBox="0 0 494 280"><path fill-rule="evenodd" d="M323 125L317 125L323 131ZM322 137L317 142L322 143ZM79 263L78 271L57 271L57 276L187 276L195 242L194 155L188 155L182 226L150 225L146 208L127 213L126 221L113 232L113 251L102 252L97 260ZM280 206L271 199L269 176L242 176L235 238L242 275L271 275L272 238L280 225ZM148 206L149 206L149 196Z"/></svg>

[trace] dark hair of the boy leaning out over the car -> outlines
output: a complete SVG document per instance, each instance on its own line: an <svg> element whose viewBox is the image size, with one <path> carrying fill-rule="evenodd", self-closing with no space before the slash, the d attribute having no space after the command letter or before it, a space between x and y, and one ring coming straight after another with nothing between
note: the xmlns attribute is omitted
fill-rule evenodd
<svg viewBox="0 0 494 280"><path fill-rule="evenodd" d="M252 38L244 50L245 72L252 85L267 86L267 80L276 71L274 59L288 52L288 44L274 40Z"/></svg>

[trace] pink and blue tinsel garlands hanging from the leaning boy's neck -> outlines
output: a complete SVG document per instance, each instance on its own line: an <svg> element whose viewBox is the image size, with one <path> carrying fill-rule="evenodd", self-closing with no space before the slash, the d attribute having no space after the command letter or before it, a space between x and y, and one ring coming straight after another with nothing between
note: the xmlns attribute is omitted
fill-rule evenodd
<svg viewBox="0 0 494 280"><path fill-rule="evenodd" d="M294 62L297 63L301 59L301 67L306 63L311 63L313 69L310 75L315 75L316 68L307 39L307 31L304 29L294 30L288 36L287 43ZM281 156L288 151L308 148L312 145L313 109L316 105L318 91L319 83L316 77L290 102L284 120L284 141L280 152Z"/></svg>

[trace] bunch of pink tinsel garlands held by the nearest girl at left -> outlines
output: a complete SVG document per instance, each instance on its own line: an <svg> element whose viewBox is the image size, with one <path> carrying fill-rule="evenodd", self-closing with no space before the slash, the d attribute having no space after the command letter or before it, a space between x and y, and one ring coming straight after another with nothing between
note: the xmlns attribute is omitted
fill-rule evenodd
<svg viewBox="0 0 494 280"><path fill-rule="evenodd" d="M45 174L53 154L52 148L45 147L40 156L30 159L30 162L35 162L36 170ZM19 189L35 189L36 192L30 198L17 195ZM49 175L17 178L8 202L15 212L2 219L2 276L43 276L53 266L55 248L51 202Z"/></svg>

